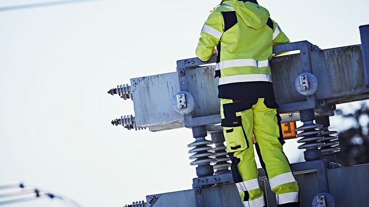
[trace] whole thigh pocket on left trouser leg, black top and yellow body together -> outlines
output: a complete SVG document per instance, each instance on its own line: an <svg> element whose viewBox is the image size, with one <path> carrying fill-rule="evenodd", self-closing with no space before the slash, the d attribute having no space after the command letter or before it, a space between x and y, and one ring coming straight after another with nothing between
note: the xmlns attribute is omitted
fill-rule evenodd
<svg viewBox="0 0 369 207"><path fill-rule="evenodd" d="M227 143L227 152L237 152L249 147L240 116L223 119L222 126Z"/></svg>

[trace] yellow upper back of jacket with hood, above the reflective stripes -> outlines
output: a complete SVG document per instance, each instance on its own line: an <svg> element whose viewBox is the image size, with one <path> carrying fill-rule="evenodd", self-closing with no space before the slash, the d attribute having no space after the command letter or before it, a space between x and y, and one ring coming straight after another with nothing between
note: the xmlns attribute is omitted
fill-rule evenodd
<svg viewBox="0 0 369 207"><path fill-rule="evenodd" d="M251 2L226 1L226 3L213 11L223 13L225 22L221 38L221 46L225 50L221 52L220 61L233 59L262 61L271 58L273 28L267 25L269 11ZM271 23L273 27L273 22Z"/></svg>

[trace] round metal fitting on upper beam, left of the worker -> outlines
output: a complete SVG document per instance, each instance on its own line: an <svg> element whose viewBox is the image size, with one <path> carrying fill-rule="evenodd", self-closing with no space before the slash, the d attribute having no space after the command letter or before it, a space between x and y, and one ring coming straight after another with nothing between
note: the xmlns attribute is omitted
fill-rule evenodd
<svg viewBox="0 0 369 207"><path fill-rule="evenodd" d="M173 109L180 114L189 114L195 108L195 100L187 91L180 91L172 98Z"/></svg>

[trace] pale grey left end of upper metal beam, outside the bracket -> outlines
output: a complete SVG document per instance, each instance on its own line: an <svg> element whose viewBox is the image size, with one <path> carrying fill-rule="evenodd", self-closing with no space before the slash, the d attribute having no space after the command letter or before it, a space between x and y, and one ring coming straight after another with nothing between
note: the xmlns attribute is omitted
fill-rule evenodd
<svg viewBox="0 0 369 207"><path fill-rule="evenodd" d="M137 126L155 130L183 127L184 117L172 106L173 96L180 91L177 73L131 79Z"/></svg>

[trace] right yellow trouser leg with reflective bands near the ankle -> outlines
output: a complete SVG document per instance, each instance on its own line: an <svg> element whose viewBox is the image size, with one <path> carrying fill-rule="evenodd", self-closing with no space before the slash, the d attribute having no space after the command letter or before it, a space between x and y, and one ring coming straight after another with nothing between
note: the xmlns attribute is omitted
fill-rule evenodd
<svg viewBox="0 0 369 207"><path fill-rule="evenodd" d="M260 146L272 191L280 202L278 204L296 202L299 188L278 140L277 109L267 105L272 107L273 104L260 98L252 108L255 139Z"/></svg>

